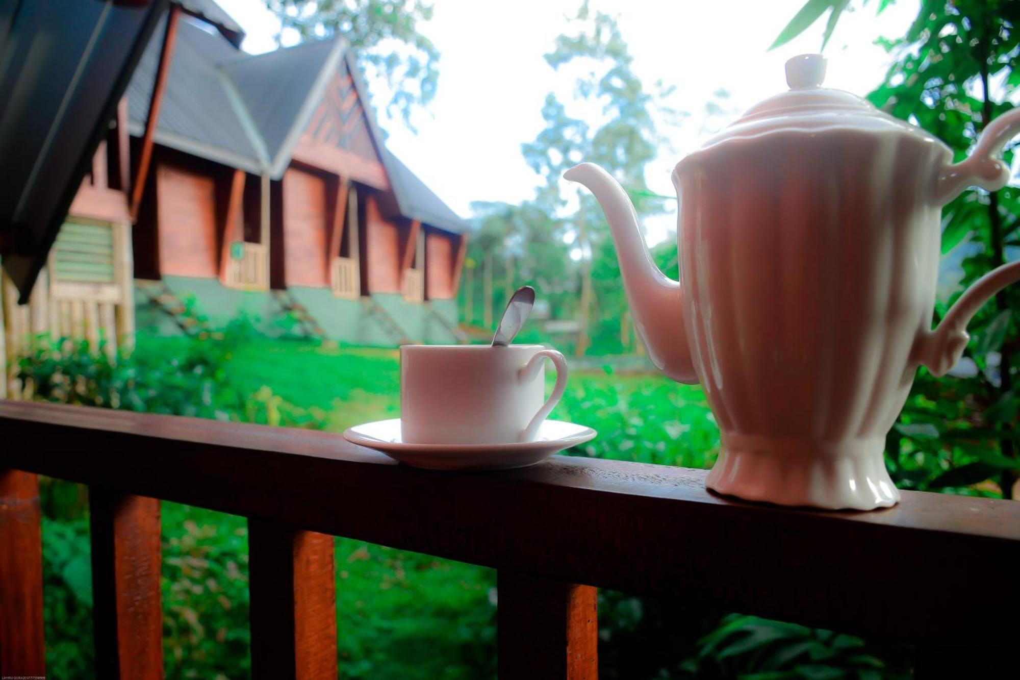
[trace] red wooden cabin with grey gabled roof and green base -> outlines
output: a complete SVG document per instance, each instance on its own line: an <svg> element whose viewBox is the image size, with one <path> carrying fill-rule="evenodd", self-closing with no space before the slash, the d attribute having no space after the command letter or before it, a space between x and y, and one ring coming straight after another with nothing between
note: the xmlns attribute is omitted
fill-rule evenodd
<svg viewBox="0 0 1020 680"><path fill-rule="evenodd" d="M139 327L187 329L194 296L213 326L244 313L268 334L455 342L469 227L382 144L345 41L250 55L210 14L171 12L128 89L136 165L158 107Z"/></svg>

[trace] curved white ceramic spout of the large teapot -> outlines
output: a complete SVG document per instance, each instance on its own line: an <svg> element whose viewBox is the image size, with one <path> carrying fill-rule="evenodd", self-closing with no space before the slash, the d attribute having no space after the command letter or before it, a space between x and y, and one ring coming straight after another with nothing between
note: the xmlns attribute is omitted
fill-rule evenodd
<svg viewBox="0 0 1020 680"><path fill-rule="evenodd" d="M575 165L563 178L588 187L606 213L620 260L627 303L652 362L678 383L697 383L683 328L680 284L656 266L642 238L638 213L623 187L594 163Z"/></svg>

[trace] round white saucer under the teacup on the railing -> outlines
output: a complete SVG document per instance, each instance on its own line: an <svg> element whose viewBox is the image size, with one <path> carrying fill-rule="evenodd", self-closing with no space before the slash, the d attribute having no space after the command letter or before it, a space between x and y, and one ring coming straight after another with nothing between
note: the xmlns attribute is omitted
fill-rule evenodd
<svg viewBox="0 0 1020 680"><path fill-rule="evenodd" d="M414 468L426 470L510 470L533 466L553 453L582 444L596 432L583 425L546 421L534 441L516 444L411 444L401 438L400 419L355 425L344 433L347 441L386 453Z"/></svg>

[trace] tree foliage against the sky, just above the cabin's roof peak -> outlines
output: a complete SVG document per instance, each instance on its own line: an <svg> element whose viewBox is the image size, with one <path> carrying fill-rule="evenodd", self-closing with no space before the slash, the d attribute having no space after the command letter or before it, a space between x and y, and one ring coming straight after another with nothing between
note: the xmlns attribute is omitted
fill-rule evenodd
<svg viewBox="0 0 1020 680"><path fill-rule="evenodd" d="M424 0L265 0L283 29L302 40L343 36L358 66L373 82L385 81L392 93L385 110L411 126L415 106L436 96L440 52L418 31L432 16ZM277 35L277 42L282 35ZM412 127L413 129L413 127Z"/></svg>

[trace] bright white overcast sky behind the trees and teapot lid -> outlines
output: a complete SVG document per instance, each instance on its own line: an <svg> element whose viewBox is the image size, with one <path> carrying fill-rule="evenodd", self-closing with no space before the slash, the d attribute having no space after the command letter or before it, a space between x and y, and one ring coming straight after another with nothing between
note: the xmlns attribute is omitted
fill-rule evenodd
<svg viewBox="0 0 1020 680"><path fill-rule="evenodd" d="M785 90L788 57L818 51L824 20L767 51L804 1L592 0L593 9L618 15L643 81L676 86L668 103L691 114L680 128L666 131L673 150L663 151L649 167L653 190L671 195L669 174L685 152L745 109ZM278 23L261 0L218 2L248 33L246 50L275 48ZM882 80L888 59L874 40L904 35L918 0L898 0L876 16L878 4L840 18L825 49L827 87L864 95ZM393 151L462 215L470 213L474 200L518 202L533 194L538 178L524 163L520 145L542 130L548 92L569 98L570 77L550 68L543 55L578 6L579 0L435 0L434 17L420 31L442 52L436 99L415 116L417 135L400 122L380 123ZM381 97L379 87L374 89ZM731 94L732 110L709 115L706 104L720 89ZM649 239L665 237L672 221L646 225Z"/></svg>

